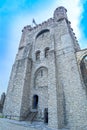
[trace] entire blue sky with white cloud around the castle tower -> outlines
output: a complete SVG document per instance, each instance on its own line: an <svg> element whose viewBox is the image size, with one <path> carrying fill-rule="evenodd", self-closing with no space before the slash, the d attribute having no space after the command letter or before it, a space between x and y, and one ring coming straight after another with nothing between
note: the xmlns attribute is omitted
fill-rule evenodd
<svg viewBox="0 0 87 130"><path fill-rule="evenodd" d="M82 49L87 48L87 0L0 0L0 95L9 77L21 38L21 30L53 17L58 6L67 9L71 26Z"/></svg>

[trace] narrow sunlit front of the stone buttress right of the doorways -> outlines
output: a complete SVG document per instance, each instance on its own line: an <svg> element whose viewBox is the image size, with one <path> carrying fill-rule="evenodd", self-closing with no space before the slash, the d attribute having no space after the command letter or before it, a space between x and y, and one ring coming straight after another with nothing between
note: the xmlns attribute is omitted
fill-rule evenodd
<svg viewBox="0 0 87 130"><path fill-rule="evenodd" d="M58 106L54 50L49 52L48 58L48 126L58 129Z"/></svg>

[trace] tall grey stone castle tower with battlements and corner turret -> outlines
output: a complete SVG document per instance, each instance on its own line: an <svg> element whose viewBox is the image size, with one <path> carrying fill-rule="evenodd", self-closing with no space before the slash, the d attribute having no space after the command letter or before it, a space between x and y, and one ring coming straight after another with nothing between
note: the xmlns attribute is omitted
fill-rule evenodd
<svg viewBox="0 0 87 130"><path fill-rule="evenodd" d="M22 30L5 117L43 121L56 129L87 129L87 50L80 49L66 12L58 7L53 18Z"/></svg>

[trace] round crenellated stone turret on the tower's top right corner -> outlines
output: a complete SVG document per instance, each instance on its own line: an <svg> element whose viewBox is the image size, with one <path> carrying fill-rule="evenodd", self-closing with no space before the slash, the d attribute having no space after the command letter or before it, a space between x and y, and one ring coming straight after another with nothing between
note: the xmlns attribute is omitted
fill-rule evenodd
<svg viewBox="0 0 87 130"><path fill-rule="evenodd" d="M60 6L58 8L56 8L56 10L54 11L54 18L58 21L60 19L67 19L67 9L65 9L63 6Z"/></svg>

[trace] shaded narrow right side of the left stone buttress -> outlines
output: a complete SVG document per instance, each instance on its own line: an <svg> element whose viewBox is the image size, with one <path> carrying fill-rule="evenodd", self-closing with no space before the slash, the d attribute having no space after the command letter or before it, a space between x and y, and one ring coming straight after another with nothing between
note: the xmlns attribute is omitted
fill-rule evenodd
<svg viewBox="0 0 87 130"><path fill-rule="evenodd" d="M28 58L26 63L26 73L24 78L23 94L21 100L21 111L20 111L21 120L25 119L30 112L31 69L32 69L32 61L31 59Z"/></svg>

